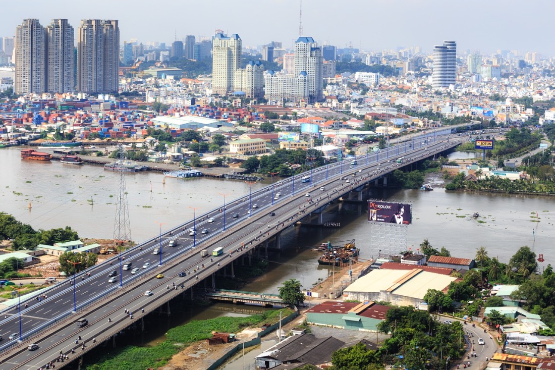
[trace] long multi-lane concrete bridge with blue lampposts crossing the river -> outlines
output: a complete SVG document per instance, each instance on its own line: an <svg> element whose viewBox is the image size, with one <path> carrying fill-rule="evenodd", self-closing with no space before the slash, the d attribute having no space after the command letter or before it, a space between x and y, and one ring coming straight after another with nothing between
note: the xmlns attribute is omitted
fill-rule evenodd
<svg viewBox="0 0 555 370"><path fill-rule="evenodd" d="M168 304L166 312L169 313L171 299L181 294L193 298L196 286L214 289L218 271L234 276L235 268L248 268L251 258L263 252L260 247L267 247L269 239L310 212L384 178L398 167L437 155L462 141L457 137L447 140L448 134L451 129L356 157L359 164L353 166L347 161L330 163L233 201L224 197L221 208L78 273L75 284L66 281L44 289L41 294L46 294L47 299L24 299L21 304L5 309L0 316L5 317L0 321L0 333L4 337L0 345L0 370L44 368L60 351L71 360L100 342L114 340L114 335L130 324L142 325L149 312L164 304ZM392 161L399 155L404 157L403 163ZM301 182L303 176L310 176L309 182ZM346 176L349 183L345 181ZM308 202L308 199L314 201ZM258 208L253 209L254 203ZM192 231L204 228L208 229L207 234ZM218 256L200 253L220 247L223 254ZM154 254L154 249L161 253ZM125 263L139 267L139 272L132 274L123 270L123 257ZM204 267L200 268L201 265ZM113 271L118 281L109 283L108 274ZM186 271L189 273L185 274ZM145 294L147 291L153 294ZM84 327L77 325L81 318L88 320ZM8 339L11 333L16 334L14 339ZM75 343L77 336L83 341ZM38 344L36 351L27 350L31 343ZM57 367L65 363L58 363Z"/></svg>

